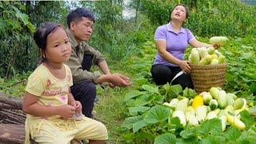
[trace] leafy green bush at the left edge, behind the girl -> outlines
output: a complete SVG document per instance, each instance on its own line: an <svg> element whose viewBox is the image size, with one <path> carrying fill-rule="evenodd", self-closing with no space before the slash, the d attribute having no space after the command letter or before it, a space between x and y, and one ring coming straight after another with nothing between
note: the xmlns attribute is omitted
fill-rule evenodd
<svg viewBox="0 0 256 144"><path fill-rule="evenodd" d="M0 2L0 77L34 67L37 52L32 45L34 26L20 2ZM32 63L33 62L33 63Z"/></svg>

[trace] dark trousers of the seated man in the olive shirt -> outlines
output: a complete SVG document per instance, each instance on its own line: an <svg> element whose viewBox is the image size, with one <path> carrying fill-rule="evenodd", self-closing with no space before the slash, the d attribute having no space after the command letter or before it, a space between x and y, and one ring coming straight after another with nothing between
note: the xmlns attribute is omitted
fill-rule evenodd
<svg viewBox="0 0 256 144"><path fill-rule="evenodd" d="M91 55L84 55L82 60L82 70L90 71L92 59L93 57ZM86 80L74 83L70 89L74 99L82 104L82 114L85 114L86 117L90 118L94 108L94 98L96 97L96 86L94 82Z"/></svg>

